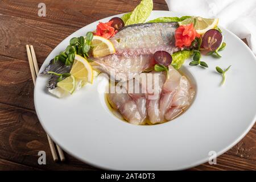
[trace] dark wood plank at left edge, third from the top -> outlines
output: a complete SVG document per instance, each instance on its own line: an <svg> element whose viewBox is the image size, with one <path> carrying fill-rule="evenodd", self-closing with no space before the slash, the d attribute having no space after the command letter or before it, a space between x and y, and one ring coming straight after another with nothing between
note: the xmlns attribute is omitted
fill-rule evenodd
<svg viewBox="0 0 256 182"><path fill-rule="evenodd" d="M34 85L28 61L0 56L0 102L34 110Z"/></svg>

